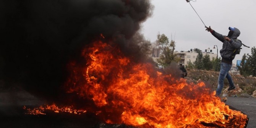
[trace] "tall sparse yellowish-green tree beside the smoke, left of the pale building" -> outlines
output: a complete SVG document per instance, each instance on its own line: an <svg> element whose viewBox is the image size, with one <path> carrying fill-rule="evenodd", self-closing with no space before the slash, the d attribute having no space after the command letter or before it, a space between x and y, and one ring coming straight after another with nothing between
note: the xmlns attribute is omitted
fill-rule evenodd
<svg viewBox="0 0 256 128"><path fill-rule="evenodd" d="M174 53L175 50L175 41L169 42L169 39L165 34L157 34L157 47L160 49L160 56L157 59L157 63L166 67L172 62L180 61L180 58L177 57L177 54Z"/></svg>

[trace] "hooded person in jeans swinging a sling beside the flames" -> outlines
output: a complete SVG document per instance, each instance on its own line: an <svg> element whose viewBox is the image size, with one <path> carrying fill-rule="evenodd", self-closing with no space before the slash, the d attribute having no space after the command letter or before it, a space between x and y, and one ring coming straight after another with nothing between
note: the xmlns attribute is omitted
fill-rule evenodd
<svg viewBox="0 0 256 128"><path fill-rule="evenodd" d="M242 42L237 39L240 35L240 31L237 28L229 27L228 36L223 36L211 29L211 26L205 27L208 32L221 41L222 49L220 50L220 55L222 57L220 63L220 74L218 78L218 86L216 89L217 96L220 96L220 93L224 86L224 79L228 79L229 88L228 91L236 89L234 86L232 77L228 74L228 71L232 67L232 60L235 58L235 55L239 53Z"/></svg>

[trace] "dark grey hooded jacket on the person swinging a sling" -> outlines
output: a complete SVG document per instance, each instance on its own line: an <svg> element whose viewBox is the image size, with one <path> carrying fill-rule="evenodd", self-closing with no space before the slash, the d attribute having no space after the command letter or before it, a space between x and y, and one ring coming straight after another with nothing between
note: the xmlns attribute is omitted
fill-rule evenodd
<svg viewBox="0 0 256 128"><path fill-rule="evenodd" d="M237 37L240 35L240 31L237 28L229 28L230 31L233 32L232 35L228 35L230 41L224 40L224 37L222 34L219 34L218 32L215 32L214 30L211 32L214 37L216 37L219 41L223 42L222 49L220 50L220 55L222 59L232 62L232 60L235 58L234 50L240 49L242 46L242 42L237 39Z"/></svg>

